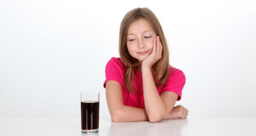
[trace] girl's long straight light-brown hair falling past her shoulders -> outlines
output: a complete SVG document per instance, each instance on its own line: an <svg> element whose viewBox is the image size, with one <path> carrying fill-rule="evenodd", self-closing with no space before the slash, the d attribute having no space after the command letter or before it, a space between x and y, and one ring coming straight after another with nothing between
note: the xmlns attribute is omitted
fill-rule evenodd
<svg viewBox="0 0 256 136"><path fill-rule="evenodd" d="M152 66L152 74L154 75L154 82L156 86L164 85L169 76L169 51L166 42L166 38L163 34L163 29L154 15L154 13L148 8L135 8L125 14L120 26L119 31L119 55L121 57L121 61L125 63L126 71L124 76L125 88L131 92L134 91L134 77L135 77L135 69L138 68L140 62L132 57L126 45L126 36L127 31L131 23L134 21L143 18L145 19L153 28L154 32L160 37L160 41L163 45L162 57Z"/></svg>

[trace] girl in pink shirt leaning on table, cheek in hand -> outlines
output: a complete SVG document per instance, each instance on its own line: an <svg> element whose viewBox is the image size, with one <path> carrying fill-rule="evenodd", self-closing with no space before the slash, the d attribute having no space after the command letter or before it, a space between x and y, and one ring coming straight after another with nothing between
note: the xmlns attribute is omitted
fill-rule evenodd
<svg viewBox="0 0 256 136"><path fill-rule="evenodd" d="M125 14L119 33L120 58L105 69L106 98L113 122L184 119L181 105L185 75L169 65L166 38L157 17L148 8Z"/></svg>

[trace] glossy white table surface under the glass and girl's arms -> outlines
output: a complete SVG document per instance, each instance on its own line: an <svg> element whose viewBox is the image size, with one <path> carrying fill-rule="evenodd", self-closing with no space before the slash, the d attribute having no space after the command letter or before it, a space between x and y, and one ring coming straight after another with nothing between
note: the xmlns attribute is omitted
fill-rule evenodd
<svg viewBox="0 0 256 136"><path fill-rule="evenodd" d="M256 118L168 119L157 123L100 118L89 136L256 136ZM84 136L79 118L0 118L0 136Z"/></svg>

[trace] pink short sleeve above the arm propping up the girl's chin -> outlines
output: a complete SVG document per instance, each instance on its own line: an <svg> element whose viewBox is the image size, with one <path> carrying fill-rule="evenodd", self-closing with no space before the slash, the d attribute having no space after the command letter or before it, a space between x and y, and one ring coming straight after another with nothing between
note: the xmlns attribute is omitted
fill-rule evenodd
<svg viewBox="0 0 256 136"><path fill-rule="evenodd" d="M171 91L178 94L177 101L181 99L182 89L186 83L186 77L184 73L177 69L172 74L169 75L169 78L166 82L166 85L163 87L162 92Z"/></svg>

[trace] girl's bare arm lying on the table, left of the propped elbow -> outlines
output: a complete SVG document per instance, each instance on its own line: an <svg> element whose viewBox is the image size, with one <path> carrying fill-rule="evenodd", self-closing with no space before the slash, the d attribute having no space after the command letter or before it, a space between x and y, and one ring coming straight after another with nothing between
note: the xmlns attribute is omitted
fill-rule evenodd
<svg viewBox="0 0 256 136"><path fill-rule="evenodd" d="M106 83L106 98L108 110L113 122L135 122L148 120L145 109L126 106L123 104L122 88L119 82L110 80Z"/></svg>

